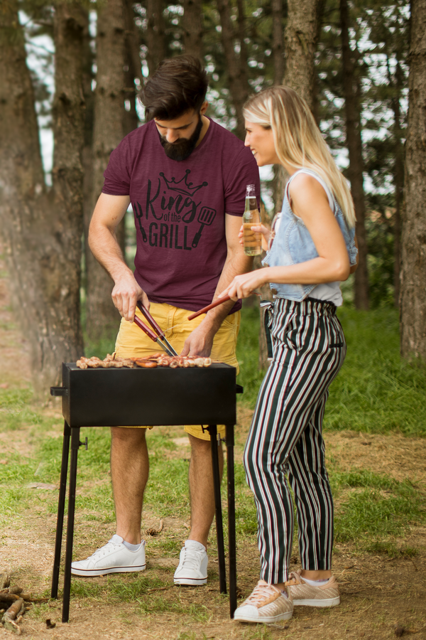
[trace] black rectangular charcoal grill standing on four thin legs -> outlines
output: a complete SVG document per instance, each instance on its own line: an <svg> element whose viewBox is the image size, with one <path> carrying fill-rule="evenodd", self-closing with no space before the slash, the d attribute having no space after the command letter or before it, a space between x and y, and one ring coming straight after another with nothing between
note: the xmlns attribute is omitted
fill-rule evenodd
<svg viewBox="0 0 426 640"><path fill-rule="evenodd" d="M65 577L62 622L70 617L72 542L74 536L75 488L77 481L80 427L119 427L138 425L208 425L212 442L214 502L216 505L219 588L226 593L226 570L222 503L217 454L217 425L226 425L228 474L229 608L236 609L236 540L234 492L234 425L236 422L236 370L224 363L207 368L88 368L75 363L62 364L62 387L50 388L62 396L65 418L62 466L58 501L52 597L58 597L62 530L65 513L68 454L71 439L70 489L68 500Z"/></svg>

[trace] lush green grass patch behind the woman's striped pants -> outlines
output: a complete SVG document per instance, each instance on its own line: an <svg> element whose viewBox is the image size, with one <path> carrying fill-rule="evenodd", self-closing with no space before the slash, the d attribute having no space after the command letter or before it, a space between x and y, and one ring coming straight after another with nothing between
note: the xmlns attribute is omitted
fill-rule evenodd
<svg viewBox="0 0 426 640"><path fill-rule="evenodd" d="M400 358L398 311L339 309L347 342L342 370L330 388L324 428L426 436L426 370ZM238 356L239 402L253 407L263 373L257 369L258 309L243 309Z"/></svg>

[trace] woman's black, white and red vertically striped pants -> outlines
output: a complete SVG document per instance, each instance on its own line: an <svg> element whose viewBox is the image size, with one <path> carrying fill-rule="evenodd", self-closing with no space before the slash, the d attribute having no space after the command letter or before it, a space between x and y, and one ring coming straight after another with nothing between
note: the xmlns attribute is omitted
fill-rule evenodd
<svg viewBox="0 0 426 640"><path fill-rule="evenodd" d="M259 391L244 468L256 501L261 578L271 584L288 580L294 526L288 481L302 568L331 569L333 499L322 420L346 354L335 309L329 302L278 298L269 321L273 362Z"/></svg>

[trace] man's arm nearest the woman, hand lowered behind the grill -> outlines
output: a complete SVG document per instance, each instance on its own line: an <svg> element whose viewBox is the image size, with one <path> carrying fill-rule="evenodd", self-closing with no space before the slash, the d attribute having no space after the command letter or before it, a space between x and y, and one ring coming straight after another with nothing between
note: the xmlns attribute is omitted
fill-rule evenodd
<svg viewBox="0 0 426 640"><path fill-rule="evenodd" d="M240 228L240 216L226 213L225 235L228 253L213 300L217 299L218 294L232 282L236 275L251 270L253 258L244 254L244 248L239 243ZM208 357L212 351L213 338L234 304L235 302L230 300L208 311L200 325L185 341L181 355Z"/></svg>

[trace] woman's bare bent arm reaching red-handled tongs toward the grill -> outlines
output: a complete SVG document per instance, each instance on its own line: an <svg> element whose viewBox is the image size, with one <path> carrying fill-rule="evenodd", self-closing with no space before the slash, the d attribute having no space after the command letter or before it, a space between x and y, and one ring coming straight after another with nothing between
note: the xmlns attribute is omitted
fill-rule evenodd
<svg viewBox="0 0 426 640"><path fill-rule="evenodd" d="M288 267L266 267L234 278L223 295L248 297L267 282L278 284L321 284L349 277L346 244L321 184L307 174L290 183L293 212L303 220L317 249L318 257Z"/></svg>

